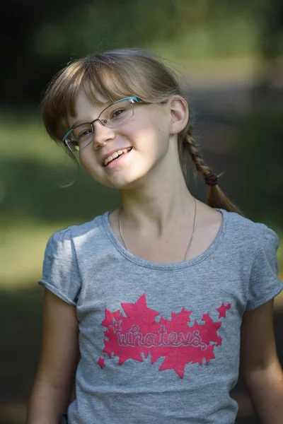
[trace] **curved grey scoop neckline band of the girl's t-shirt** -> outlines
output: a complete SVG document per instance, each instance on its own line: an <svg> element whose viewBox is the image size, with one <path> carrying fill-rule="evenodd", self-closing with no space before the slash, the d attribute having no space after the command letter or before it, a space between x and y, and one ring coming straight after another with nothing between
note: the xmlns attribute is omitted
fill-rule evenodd
<svg viewBox="0 0 283 424"><path fill-rule="evenodd" d="M146 259L141 259L139 257L134 256L131 252L125 249L125 247L117 239L115 232L112 230L112 227L110 225L110 220L109 220L110 211L103 213L103 216L101 218L103 222L103 228L105 232L107 233L108 237L110 238L112 244L126 259L134 262L135 264L139 266L144 266L146 268L168 270L168 269L186 268L187 266L198 264L200 261L203 261L204 259L209 257L209 255L212 254L212 252L214 252L216 247L218 247L219 243L224 237L224 232L226 228L227 211L221 208L214 208L214 209L222 213L221 226L219 228L219 232L216 235L214 241L207 248L207 250L202 252L202 254L198 255L197 257L188 259L187 261L168 263L168 264L159 264L158 262L146 261Z"/></svg>

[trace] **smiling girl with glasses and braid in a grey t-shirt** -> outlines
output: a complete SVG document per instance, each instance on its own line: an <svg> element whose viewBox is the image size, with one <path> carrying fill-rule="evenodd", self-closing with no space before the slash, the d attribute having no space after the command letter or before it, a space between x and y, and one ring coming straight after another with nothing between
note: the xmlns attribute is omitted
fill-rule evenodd
<svg viewBox="0 0 283 424"><path fill-rule="evenodd" d="M93 54L50 83L48 134L121 207L55 232L28 424L232 424L241 374L262 424L282 424L272 328L277 234L224 196L175 77L149 52ZM186 152L209 185L185 184ZM70 403L75 375L75 396Z"/></svg>

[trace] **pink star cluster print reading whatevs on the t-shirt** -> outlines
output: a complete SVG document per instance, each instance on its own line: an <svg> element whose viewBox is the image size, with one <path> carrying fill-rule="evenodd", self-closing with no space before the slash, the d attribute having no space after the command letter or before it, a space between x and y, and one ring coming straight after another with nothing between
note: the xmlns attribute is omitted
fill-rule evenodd
<svg viewBox="0 0 283 424"><path fill-rule="evenodd" d="M146 293L134 303L121 302L121 307L125 315L121 310L110 312L105 308L105 318L101 322L107 328L103 352L110 360L119 358L119 365L127 360L143 362L144 358L150 358L154 364L162 358L159 371L174 370L183 378L187 364L207 365L216 357L214 350L217 351L217 346L223 343L218 331L224 320L214 322L210 312L202 314L201 324L196 319L195 324L192 323L192 311L185 307L180 312L171 311L171 319L164 318L160 312L148 307ZM217 311L221 318L225 318L230 308L231 303L225 305L222 302L214 313ZM105 367L104 359L100 358L98 364Z"/></svg>

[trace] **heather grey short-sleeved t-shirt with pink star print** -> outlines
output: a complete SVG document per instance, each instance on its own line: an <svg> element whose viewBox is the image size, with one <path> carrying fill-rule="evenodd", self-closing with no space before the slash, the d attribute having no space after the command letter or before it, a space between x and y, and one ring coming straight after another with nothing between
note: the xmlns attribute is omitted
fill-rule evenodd
<svg viewBox="0 0 283 424"><path fill-rule="evenodd" d="M243 312L283 284L277 234L217 210L212 245L176 264L134 257L109 212L50 237L39 283L76 305L79 320L69 424L234 423Z"/></svg>

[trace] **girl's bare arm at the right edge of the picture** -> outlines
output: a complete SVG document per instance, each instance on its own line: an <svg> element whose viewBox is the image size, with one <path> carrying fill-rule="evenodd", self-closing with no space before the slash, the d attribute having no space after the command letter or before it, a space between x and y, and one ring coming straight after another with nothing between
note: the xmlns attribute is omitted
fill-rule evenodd
<svg viewBox="0 0 283 424"><path fill-rule="evenodd" d="M283 423L283 373L273 330L273 300L245 312L240 372L261 424Z"/></svg>

